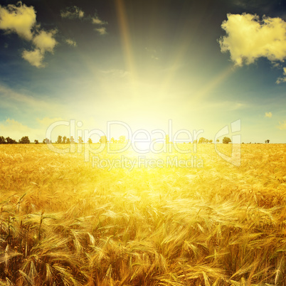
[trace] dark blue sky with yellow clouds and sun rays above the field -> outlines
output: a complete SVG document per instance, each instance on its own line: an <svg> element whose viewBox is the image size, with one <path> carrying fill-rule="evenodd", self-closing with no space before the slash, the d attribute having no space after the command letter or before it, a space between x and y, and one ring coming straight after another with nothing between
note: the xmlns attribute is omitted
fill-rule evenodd
<svg viewBox="0 0 286 286"><path fill-rule="evenodd" d="M0 4L0 136L214 139L240 120L241 142L286 142L286 1Z"/></svg>

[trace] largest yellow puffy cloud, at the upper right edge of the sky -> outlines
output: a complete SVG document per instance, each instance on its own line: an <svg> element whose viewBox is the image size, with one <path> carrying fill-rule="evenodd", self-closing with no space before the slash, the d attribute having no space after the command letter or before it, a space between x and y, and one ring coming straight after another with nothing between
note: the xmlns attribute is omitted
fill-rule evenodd
<svg viewBox="0 0 286 286"><path fill-rule="evenodd" d="M235 65L254 63L257 58L283 61L286 58L286 22L252 14L228 14L221 27L226 36L219 39L221 52L231 53Z"/></svg>

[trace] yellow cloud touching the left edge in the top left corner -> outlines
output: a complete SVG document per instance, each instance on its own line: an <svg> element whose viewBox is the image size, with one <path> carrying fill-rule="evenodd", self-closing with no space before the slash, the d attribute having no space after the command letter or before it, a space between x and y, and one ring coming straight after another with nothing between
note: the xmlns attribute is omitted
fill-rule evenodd
<svg viewBox="0 0 286 286"><path fill-rule="evenodd" d="M18 2L18 6L9 4L7 7L0 5L0 28L9 33L17 33L21 38L31 41L32 28L36 23L36 11L33 6L27 7Z"/></svg>

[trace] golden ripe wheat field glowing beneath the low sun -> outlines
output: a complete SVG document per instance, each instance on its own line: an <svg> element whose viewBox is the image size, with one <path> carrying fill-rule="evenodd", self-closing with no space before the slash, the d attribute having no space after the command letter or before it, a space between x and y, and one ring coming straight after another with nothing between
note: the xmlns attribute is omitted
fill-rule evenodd
<svg viewBox="0 0 286 286"><path fill-rule="evenodd" d="M213 146L108 170L0 145L0 285L286 285L286 145L242 144L241 166Z"/></svg>

